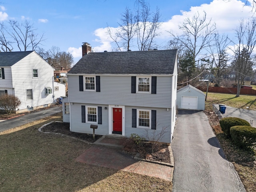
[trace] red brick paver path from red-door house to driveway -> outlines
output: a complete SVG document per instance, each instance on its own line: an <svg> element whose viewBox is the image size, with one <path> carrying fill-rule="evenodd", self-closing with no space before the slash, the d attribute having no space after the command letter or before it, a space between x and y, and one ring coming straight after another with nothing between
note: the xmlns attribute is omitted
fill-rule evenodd
<svg viewBox="0 0 256 192"><path fill-rule="evenodd" d="M91 146L76 161L171 181L171 167L134 160L131 155L122 153L117 148Z"/></svg>

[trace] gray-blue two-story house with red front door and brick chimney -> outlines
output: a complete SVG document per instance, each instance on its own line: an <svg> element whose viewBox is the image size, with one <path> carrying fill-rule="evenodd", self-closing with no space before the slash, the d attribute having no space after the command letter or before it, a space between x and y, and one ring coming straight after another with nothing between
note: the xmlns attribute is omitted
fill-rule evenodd
<svg viewBox="0 0 256 192"><path fill-rule="evenodd" d="M175 125L177 50L91 52L68 72L63 120L70 131L170 143ZM148 135L148 136L146 136Z"/></svg>

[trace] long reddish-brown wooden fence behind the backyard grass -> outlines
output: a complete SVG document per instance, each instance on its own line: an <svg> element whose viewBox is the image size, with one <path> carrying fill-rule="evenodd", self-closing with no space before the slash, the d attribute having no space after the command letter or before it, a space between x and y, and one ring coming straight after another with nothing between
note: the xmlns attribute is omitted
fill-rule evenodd
<svg viewBox="0 0 256 192"><path fill-rule="evenodd" d="M196 88L198 88L199 90L201 90L203 92L206 92L206 89L207 89L206 86L198 86ZM233 87L209 87L208 92L236 94L237 88L233 88ZM256 90L241 88L240 94L256 95Z"/></svg>

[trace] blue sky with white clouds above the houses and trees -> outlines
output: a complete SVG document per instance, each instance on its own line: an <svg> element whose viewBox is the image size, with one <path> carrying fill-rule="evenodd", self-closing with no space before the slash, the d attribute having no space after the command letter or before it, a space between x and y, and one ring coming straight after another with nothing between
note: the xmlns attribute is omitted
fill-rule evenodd
<svg viewBox="0 0 256 192"><path fill-rule="evenodd" d="M70 51L79 60L82 56L82 42L88 42L97 52L110 51L114 44L106 35L106 26L117 28L120 14L126 6L134 8L135 0L1 0L0 21L28 20L34 23L38 34L44 33L46 40L42 48L60 47L61 51ZM167 33L178 33L178 24L194 15L206 12L207 18L216 23L220 33L231 34L241 18L253 16L250 0L148 0L151 11L158 6L161 14L162 35L157 39L164 45L170 40ZM161 47L159 48L161 49ZM15 50L13 50L15 51ZM16 50L18 51L18 50Z"/></svg>

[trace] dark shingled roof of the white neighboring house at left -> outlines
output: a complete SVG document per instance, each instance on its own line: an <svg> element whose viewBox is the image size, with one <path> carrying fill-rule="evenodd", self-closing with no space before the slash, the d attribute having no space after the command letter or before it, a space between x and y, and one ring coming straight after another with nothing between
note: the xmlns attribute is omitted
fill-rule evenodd
<svg viewBox="0 0 256 192"><path fill-rule="evenodd" d="M33 51L0 52L0 67L12 66Z"/></svg>

